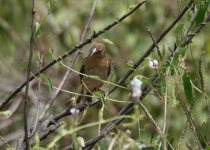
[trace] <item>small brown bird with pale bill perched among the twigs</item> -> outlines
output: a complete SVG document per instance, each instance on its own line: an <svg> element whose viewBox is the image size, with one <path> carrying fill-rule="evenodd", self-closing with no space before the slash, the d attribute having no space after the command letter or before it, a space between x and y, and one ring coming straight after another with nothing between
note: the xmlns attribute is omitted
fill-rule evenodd
<svg viewBox="0 0 210 150"><path fill-rule="evenodd" d="M110 74L110 62L106 57L106 47L103 43L94 42L90 48L89 54L84 58L81 65L80 73L98 76L102 80L107 80ZM103 82L97 79L80 75L82 94L91 95L93 91L99 90ZM84 98L84 97L83 97ZM84 98L85 102L91 101L91 98ZM81 96L78 97L77 103L81 102Z"/></svg>

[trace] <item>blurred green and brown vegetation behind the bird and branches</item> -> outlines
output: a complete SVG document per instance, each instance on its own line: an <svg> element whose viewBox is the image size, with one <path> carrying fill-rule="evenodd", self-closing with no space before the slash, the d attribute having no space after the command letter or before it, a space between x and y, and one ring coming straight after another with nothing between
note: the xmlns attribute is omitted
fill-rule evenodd
<svg viewBox="0 0 210 150"><path fill-rule="evenodd" d="M91 36L94 31L103 29L112 23L116 18L125 14L129 8L136 4L137 0L99 0L94 12L87 37ZM39 70L40 65L48 64L53 57L58 57L70 50L80 42L84 26L88 20L93 0L36 0L36 22L40 24L40 36L35 41L34 55L32 63L32 72ZM140 58L146 49L152 44L152 39L148 33L150 29L154 38L157 38L162 31L170 25L173 19L181 11L186 4L185 0L151 0L134 14L126 18L122 23L111 30L102 34L95 41L105 42L109 59L114 63L114 75L110 82L116 82L126 71L131 69L132 64ZM177 24L183 24L187 27L193 13L198 10L198 3L181 19ZM18 85L26 80L27 63L29 55L29 40L31 34L31 1L28 0L0 0L0 102L5 100ZM176 27L177 27L176 26ZM164 58L170 54L169 49L173 48L176 42L176 28L174 28L161 43L158 45ZM196 35L193 43L188 47L188 51L184 57L187 70L190 74L194 86L202 89L199 76L199 60L202 56L202 75L204 79L204 93L194 90L194 107L192 110L193 118L198 125L201 133L209 139L210 133L210 116L209 116L209 94L210 94L210 28L207 25L201 33ZM108 41L108 42L106 42ZM81 49L81 55L74 65L73 69L79 70L82 59L87 55L90 45L86 45ZM201 55L204 53L204 55ZM42 63L40 64L40 58ZM62 62L69 65L73 55L67 57ZM157 51L150 55L150 59L156 59L159 62L158 68L163 66ZM148 66L149 58L145 59L143 64L125 81L122 86L128 87L129 81L134 76L150 78L155 70ZM179 67L179 66L178 66ZM48 84L58 87L68 68L57 63L45 72ZM178 70L183 72L181 67ZM41 82L40 90L38 90L40 79L33 80L29 89L29 106L28 118L29 127L33 126L36 115L37 100L40 99L40 112L43 111L47 102L52 98L56 89L50 90L49 85ZM193 147L193 133L189 127L183 133L186 125L186 116L179 99L185 99L181 75L179 73L174 76L164 76L163 80L167 81L168 89L167 97L167 119L166 119L166 135L172 142L172 145L180 149L187 146ZM77 92L80 86L79 77L76 73L71 73L68 81L63 89L67 91ZM103 87L107 90L108 85ZM23 134L23 95L22 90L7 105L5 110L9 113L0 116L0 135L11 146L15 146L17 139ZM144 99L144 104L154 117L160 128L164 125L164 96L157 94L157 90L151 91ZM204 96L205 95L205 96ZM74 95L61 91L49 112L46 114L47 119L50 115L57 114L64 110L72 100ZM101 104L91 107L87 110L81 125L88 125L91 122L100 120L100 113L103 118L108 119L117 115L119 110L128 103L129 91L117 89L109 98L122 102L107 101L107 109L101 111ZM184 100L185 101L185 100ZM186 102L187 103L187 102ZM188 104L188 103L187 103ZM190 105L187 105L190 106ZM141 109L136 106L131 116L137 119L126 119L115 132L109 134L99 146L107 148L110 141L117 137L114 145L115 149L129 149L133 145L134 149L139 145L157 146L160 137L155 131L154 126L145 117ZM57 132L50 135L46 140L41 142L41 146L46 147L53 141L55 136L61 131L70 131L75 127L75 120L79 121L82 115L78 117L66 117L63 119L64 126ZM104 127L106 124L102 124ZM90 126L79 130L77 133L67 134L56 142L56 148L61 149L70 144L74 140L74 136L82 137L88 140L98 133L98 126ZM181 136L184 136L180 141ZM0 149L5 149L6 144L0 140Z"/></svg>

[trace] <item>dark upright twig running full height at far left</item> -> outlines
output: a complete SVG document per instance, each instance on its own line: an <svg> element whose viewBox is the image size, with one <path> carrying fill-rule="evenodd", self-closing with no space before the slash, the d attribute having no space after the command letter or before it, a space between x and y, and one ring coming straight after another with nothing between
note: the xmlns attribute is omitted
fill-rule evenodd
<svg viewBox="0 0 210 150"><path fill-rule="evenodd" d="M28 122L27 122L27 104L28 104L28 89L31 73L31 63L33 59L33 46L35 41L35 0L32 0L32 22L31 22L31 37L30 37L30 52L28 58L28 67L27 67L27 79L26 79L26 90L24 95L24 132L25 132L25 145L26 150L30 150L30 140L28 138Z"/></svg>

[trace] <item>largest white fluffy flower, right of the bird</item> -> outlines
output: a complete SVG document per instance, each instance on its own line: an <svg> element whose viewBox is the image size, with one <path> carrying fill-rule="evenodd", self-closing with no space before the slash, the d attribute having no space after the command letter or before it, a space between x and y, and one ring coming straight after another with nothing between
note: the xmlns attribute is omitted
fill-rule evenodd
<svg viewBox="0 0 210 150"><path fill-rule="evenodd" d="M141 80L134 78L133 80L131 80L130 82L130 87L131 87L131 97L135 102L139 101L139 98L142 95L142 91L141 91L141 85L142 82Z"/></svg>

